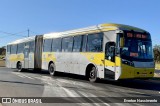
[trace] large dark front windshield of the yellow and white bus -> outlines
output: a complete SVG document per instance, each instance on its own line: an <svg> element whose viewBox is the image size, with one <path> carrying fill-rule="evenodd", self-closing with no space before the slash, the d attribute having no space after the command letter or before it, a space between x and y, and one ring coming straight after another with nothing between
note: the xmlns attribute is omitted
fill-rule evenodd
<svg viewBox="0 0 160 106"><path fill-rule="evenodd" d="M149 36L149 35L147 35ZM142 34L125 35L124 47L121 49L121 57L132 61L153 60L152 42Z"/></svg>

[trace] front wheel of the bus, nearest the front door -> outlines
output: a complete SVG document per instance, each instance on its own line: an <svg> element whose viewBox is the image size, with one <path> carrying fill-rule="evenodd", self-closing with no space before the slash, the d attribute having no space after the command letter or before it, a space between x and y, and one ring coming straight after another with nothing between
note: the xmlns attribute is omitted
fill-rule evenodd
<svg viewBox="0 0 160 106"><path fill-rule="evenodd" d="M91 71L89 72L89 81L90 82L96 82L96 80L97 80L96 67L92 67Z"/></svg>

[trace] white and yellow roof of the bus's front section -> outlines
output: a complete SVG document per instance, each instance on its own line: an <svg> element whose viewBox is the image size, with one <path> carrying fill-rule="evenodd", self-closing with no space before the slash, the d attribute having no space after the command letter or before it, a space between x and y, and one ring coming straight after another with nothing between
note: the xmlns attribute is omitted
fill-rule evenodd
<svg viewBox="0 0 160 106"><path fill-rule="evenodd" d="M105 31L111 31L111 30L128 30L128 31L135 31L135 32L147 32L143 29L124 25L124 24L99 24L91 27L81 28L81 29L75 29L75 30L69 30L64 32L53 32L44 34L44 38L58 38L58 37L65 37L69 35L82 35L82 34L89 34L89 33L98 33L98 32L105 32Z"/></svg>

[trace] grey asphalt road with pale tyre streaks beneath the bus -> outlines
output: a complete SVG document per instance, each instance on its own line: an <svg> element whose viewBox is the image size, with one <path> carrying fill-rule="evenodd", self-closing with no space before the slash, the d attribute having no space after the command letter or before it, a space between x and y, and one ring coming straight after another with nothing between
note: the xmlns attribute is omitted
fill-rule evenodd
<svg viewBox="0 0 160 106"><path fill-rule="evenodd" d="M0 68L0 97L60 97L76 103L45 103L40 106L159 106L158 103L114 103L118 99L129 97L160 97L160 80L99 80L90 83L84 77L59 73L51 77L47 72L17 72L16 69ZM71 98L68 98L71 97ZM85 97L82 98L82 97ZM108 103L99 97L108 98ZM93 103L87 103L92 101ZM100 101L97 103L93 99ZM104 99L104 98L103 98ZM22 104L1 104L17 106ZM36 106L37 104L23 104Z"/></svg>

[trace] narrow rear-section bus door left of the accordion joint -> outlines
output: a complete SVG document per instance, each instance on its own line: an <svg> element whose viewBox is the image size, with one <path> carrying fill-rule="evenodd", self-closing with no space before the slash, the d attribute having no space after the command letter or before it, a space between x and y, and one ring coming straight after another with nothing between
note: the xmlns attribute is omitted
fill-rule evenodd
<svg viewBox="0 0 160 106"><path fill-rule="evenodd" d="M29 43L24 47L24 68L29 68Z"/></svg>

